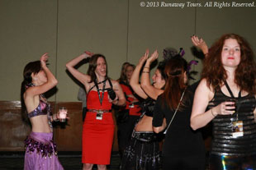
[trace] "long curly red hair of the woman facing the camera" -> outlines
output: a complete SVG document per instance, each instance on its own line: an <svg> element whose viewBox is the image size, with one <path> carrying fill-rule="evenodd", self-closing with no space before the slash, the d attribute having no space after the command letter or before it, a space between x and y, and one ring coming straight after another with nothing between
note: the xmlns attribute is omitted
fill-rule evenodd
<svg viewBox="0 0 256 170"><path fill-rule="evenodd" d="M201 71L201 79L206 79L207 85L213 89L219 88L227 79L226 71L221 62L221 52L225 39L236 39L241 52L241 59L235 70L235 83L240 90L256 94L256 63L254 52L249 43L238 34L224 34L209 50Z"/></svg>

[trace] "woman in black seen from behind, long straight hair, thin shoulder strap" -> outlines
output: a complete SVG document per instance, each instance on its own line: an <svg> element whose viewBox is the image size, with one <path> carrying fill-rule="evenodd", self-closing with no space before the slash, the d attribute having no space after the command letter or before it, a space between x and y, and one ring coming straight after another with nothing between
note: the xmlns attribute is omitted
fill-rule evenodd
<svg viewBox="0 0 256 170"><path fill-rule="evenodd" d="M177 55L168 60L164 93L154 106L154 131L166 132L163 169L205 169L205 149L201 133L190 127L195 85L187 85L187 61ZM166 128L166 129L165 129Z"/></svg>

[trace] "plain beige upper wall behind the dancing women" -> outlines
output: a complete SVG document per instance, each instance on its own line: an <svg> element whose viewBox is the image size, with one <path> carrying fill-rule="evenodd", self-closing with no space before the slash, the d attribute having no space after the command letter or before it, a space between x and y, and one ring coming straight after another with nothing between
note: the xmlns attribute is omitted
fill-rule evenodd
<svg viewBox="0 0 256 170"><path fill-rule="evenodd" d="M221 34L234 32L256 48L256 7L187 7L187 2L210 2L205 0L152 1L185 2L184 8L140 7L140 2L0 0L0 100L19 100L23 68L45 52L50 53L50 69L59 80L58 92L50 100L69 102L77 101L78 85L64 65L84 50L104 54L109 76L117 79L121 63L136 64L145 48L158 49L162 60L163 48L183 47L187 60L192 59L192 34L212 44ZM201 64L194 69L201 71Z"/></svg>

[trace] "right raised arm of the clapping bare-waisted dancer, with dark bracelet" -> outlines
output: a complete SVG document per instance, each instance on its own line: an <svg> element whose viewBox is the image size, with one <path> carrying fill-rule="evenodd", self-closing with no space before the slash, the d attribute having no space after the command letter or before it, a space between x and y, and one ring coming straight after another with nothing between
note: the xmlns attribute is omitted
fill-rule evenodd
<svg viewBox="0 0 256 170"><path fill-rule="evenodd" d="M147 95L149 95L152 99L157 99L159 94L162 94L164 90L159 90L154 88L153 85L150 83L149 78L149 71L150 71L150 64L154 62L159 57L159 53L157 50L154 51L154 53L151 54L151 57L149 57L145 63L145 67L143 68L142 75L141 75L141 88L145 91Z"/></svg>

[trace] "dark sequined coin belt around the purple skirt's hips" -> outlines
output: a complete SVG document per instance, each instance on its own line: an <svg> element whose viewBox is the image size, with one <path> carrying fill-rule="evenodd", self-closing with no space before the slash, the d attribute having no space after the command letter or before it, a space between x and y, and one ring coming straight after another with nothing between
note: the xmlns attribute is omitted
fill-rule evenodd
<svg viewBox="0 0 256 170"><path fill-rule="evenodd" d="M34 152L36 149L36 154L40 154L43 158L49 157L53 154L57 155L56 144L54 140L50 140L48 144L40 141L36 141L31 136L27 136L25 140L26 152Z"/></svg>

